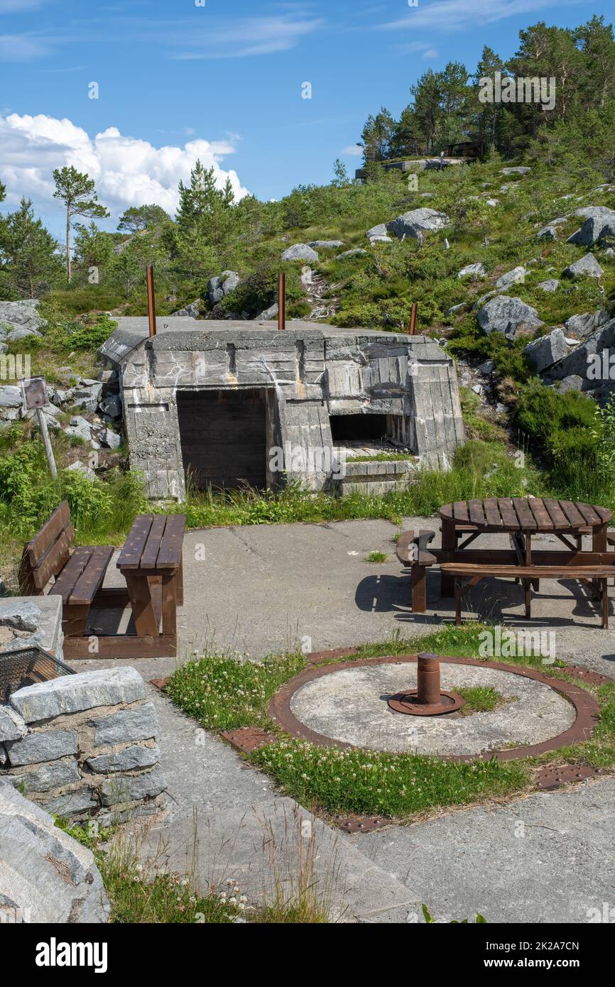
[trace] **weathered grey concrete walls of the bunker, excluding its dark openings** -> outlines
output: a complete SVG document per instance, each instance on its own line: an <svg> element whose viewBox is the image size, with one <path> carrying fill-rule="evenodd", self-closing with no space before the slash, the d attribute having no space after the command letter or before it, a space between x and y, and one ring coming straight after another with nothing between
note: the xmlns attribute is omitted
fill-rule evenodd
<svg viewBox="0 0 615 987"><path fill-rule="evenodd" d="M162 326L160 325L162 323ZM169 323L173 323L170 325ZM102 354L120 372L130 465L152 497L186 493L177 392L194 388L265 388L271 392L268 441L320 452L313 470L293 469L313 490L331 483L330 416L388 415L391 434L423 463L445 467L463 442L452 360L426 337L340 330L293 322L271 324L159 320L145 336L143 320L119 320ZM179 325L178 325L179 324ZM273 471L272 484L279 480Z"/></svg>

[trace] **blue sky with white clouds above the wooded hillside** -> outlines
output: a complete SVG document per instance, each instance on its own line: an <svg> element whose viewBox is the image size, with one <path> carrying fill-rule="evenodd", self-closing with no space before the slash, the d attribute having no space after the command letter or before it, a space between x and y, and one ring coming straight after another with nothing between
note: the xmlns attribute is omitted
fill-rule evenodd
<svg viewBox="0 0 615 987"><path fill-rule="evenodd" d="M528 24L612 12L604 0L0 0L3 207L25 192L59 233L51 171L74 163L115 217L139 201L172 211L196 156L238 192L278 198L329 181L336 157L357 167L347 149L366 115L399 114L426 68L473 70L483 45L505 58Z"/></svg>

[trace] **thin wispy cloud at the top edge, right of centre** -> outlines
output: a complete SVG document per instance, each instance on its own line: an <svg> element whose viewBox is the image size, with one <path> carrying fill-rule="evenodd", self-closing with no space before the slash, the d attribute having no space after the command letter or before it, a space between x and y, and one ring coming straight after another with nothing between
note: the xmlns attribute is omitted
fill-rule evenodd
<svg viewBox="0 0 615 987"><path fill-rule="evenodd" d="M434 0L428 5L413 7L407 15L397 21L381 25L384 30L399 31L409 28L439 28L442 31L462 31L475 28L477 24L495 24L507 17L531 14L545 7L561 7L574 4L578 0Z"/></svg>

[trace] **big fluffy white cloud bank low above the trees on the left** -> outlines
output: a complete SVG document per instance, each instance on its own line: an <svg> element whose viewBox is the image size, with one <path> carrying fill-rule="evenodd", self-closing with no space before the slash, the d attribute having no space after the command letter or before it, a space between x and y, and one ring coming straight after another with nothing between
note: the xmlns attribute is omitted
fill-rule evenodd
<svg viewBox="0 0 615 987"><path fill-rule="evenodd" d="M0 115L0 180L7 187L7 204L22 195L39 210L58 207L53 194L54 168L73 165L96 182L99 199L116 218L129 205L155 202L173 214L179 203L178 183L190 178L196 159L213 166L216 183L230 178L237 198L247 194L237 173L221 162L235 150L229 140L194 139L183 147L154 147L149 141L124 136L108 127L91 138L69 119L19 114Z"/></svg>

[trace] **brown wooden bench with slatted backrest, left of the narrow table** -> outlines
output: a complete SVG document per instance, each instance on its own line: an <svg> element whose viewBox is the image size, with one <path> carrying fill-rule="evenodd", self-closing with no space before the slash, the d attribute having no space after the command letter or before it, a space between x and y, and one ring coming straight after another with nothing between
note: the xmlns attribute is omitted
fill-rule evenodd
<svg viewBox="0 0 615 987"><path fill-rule="evenodd" d="M90 608L114 554L113 547L98 545L81 546L71 555L74 538L70 509L64 500L25 546L19 570L21 591L27 596L41 595L54 579L48 595L62 598L66 638L84 634Z"/></svg>

